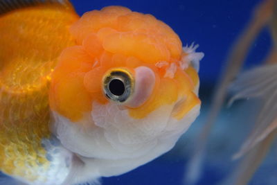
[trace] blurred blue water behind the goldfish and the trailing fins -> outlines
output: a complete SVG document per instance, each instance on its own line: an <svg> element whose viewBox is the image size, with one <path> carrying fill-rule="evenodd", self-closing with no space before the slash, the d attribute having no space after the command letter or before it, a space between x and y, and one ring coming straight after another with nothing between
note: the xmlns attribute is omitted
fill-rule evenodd
<svg viewBox="0 0 277 185"><path fill-rule="evenodd" d="M181 137L175 148L125 175L102 178L103 185L185 184L188 160L211 104L213 88L220 78L233 42L251 18L253 8L261 1L72 0L71 2L79 15L111 5L126 6L133 11L150 13L175 30L184 46L195 42L199 44L197 51L205 53L204 59L200 62L199 71L201 114L188 132ZM258 66L267 55L270 46L269 31L264 29L251 46L244 68ZM195 184L224 184L224 179L228 177L237 162L232 161L231 157L239 150L251 127L251 118L242 118L242 116L255 114L255 105L255 102L242 101L234 103L231 107L223 107L208 139L202 173ZM274 168L277 166L274 160L276 154L274 151L267 156L250 184L277 183L277 169Z"/></svg>

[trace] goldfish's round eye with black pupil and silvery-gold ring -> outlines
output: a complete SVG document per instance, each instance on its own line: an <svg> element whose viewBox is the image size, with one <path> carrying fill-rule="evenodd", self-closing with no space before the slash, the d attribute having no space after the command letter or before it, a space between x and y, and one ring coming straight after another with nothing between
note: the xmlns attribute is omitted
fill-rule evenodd
<svg viewBox="0 0 277 185"><path fill-rule="evenodd" d="M103 78L103 91L109 100L127 101L134 91L134 78L126 69L111 69Z"/></svg>

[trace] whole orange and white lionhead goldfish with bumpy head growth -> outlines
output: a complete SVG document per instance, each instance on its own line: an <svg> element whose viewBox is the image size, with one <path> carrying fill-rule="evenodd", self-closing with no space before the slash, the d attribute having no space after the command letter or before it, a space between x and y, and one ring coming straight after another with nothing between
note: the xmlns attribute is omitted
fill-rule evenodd
<svg viewBox="0 0 277 185"><path fill-rule="evenodd" d="M0 169L26 184L120 175L199 114L197 46L121 6L0 1Z"/></svg>

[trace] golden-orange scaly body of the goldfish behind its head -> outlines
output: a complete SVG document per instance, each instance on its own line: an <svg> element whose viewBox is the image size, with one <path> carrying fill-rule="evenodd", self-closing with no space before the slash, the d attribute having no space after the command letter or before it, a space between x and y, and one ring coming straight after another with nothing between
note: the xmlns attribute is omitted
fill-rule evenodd
<svg viewBox="0 0 277 185"><path fill-rule="evenodd" d="M77 19L73 8L50 3L0 17L0 168L24 182L64 180L62 170L49 170L51 155L43 145L51 143L43 142L51 138L51 71L60 52L74 44L67 30Z"/></svg>

